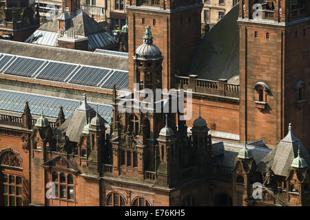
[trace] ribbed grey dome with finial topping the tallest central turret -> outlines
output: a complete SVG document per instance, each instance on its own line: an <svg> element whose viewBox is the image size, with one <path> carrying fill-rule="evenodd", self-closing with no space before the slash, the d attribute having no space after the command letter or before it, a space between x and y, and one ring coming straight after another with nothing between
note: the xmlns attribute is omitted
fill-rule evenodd
<svg viewBox="0 0 310 220"><path fill-rule="evenodd" d="M150 29L149 26L145 29L143 44L136 49L136 57L134 58L140 60L157 60L163 58L161 50L153 44L153 36Z"/></svg>

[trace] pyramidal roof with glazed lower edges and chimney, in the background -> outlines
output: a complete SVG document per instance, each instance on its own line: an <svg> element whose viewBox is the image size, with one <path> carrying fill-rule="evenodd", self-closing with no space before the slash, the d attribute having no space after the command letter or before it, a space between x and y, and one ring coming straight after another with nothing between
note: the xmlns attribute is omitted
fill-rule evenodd
<svg viewBox="0 0 310 220"><path fill-rule="evenodd" d="M43 23L25 42L91 51L117 47L118 41L83 10L78 9L78 3L68 2L70 5L63 5L61 14Z"/></svg>

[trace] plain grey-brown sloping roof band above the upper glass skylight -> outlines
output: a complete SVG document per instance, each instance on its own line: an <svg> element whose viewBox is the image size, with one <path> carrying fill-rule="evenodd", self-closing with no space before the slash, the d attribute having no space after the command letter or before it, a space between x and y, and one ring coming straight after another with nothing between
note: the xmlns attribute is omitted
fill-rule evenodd
<svg viewBox="0 0 310 220"><path fill-rule="evenodd" d="M0 52L19 56L30 56L52 61L106 67L128 71L128 57L71 50L60 47L48 47L32 43L0 40Z"/></svg>

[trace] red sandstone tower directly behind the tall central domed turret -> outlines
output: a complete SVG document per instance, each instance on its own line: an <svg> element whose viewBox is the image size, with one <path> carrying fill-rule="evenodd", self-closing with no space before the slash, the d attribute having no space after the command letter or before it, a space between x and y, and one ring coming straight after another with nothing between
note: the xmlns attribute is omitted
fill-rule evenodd
<svg viewBox="0 0 310 220"><path fill-rule="evenodd" d="M201 1L127 0L129 57L140 45L146 26L152 27L154 44L163 52L163 88L174 88L174 75L187 74L201 36ZM134 61L129 60L130 89Z"/></svg>

